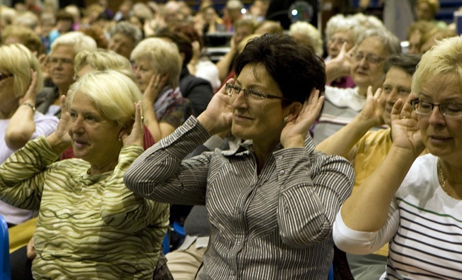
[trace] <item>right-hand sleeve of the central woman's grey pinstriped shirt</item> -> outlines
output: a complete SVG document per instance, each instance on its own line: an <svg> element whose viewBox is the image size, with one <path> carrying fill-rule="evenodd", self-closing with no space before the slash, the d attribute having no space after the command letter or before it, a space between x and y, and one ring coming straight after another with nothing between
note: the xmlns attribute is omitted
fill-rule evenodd
<svg viewBox="0 0 462 280"><path fill-rule="evenodd" d="M278 220L284 243L309 247L332 234L335 215L353 188L353 167L343 157L310 157L303 148L275 153Z"/></svg>

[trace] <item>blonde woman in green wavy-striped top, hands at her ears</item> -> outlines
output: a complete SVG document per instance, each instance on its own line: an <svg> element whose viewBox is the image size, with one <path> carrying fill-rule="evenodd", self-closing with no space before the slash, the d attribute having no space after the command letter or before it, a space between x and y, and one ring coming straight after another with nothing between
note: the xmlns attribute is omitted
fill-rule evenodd
<svg viewBox="0 0 462 280"><path fill-rule="evenodd" d="M56 132L0 166L0 198L39 211L34 279L152 279L168 205L122 181L143 152L139 99L123 74L86 74L61 99ZM77 159L55 162L71 145Z"/></svg>

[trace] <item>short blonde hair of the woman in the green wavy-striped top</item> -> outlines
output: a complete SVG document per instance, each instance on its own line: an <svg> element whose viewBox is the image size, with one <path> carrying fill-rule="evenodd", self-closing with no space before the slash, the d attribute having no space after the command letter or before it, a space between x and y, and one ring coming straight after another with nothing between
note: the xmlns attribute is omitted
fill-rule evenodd
<svg viewBox="0 0 462 280"><path fill-rule="evenodd" d="M70 86L68 108L77 92L87 96L104 118L118 126L134 120L134 103L141 100L138 86L129 77L114 70L90 72L78 79Z"/></svg>

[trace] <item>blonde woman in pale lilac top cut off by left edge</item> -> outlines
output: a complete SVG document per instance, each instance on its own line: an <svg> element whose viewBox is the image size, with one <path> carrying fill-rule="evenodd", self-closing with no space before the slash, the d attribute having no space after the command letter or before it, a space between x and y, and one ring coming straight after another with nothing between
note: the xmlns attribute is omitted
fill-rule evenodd
<svg viewBox="0 0 462 280"><path fill-rule="evenodd" d="M58 118L36 111L36 93L43 86L38 60L23 45L0 47L0 163L28 140L50 135ZM33 211L19 209L0 201L0 215L11 225L23 223Z"/></svg>

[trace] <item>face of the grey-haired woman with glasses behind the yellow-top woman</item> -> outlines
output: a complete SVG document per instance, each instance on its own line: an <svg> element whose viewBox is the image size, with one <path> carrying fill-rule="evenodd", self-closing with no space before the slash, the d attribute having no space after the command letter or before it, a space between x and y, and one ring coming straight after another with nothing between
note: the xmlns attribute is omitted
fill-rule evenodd
<svg viewBox="0 0 462 280"><path fill-rule="evenodd" d="M387 50L378 38L370 37L363 40L353 54L351 77L355 84L363 89L371 85L375 89L382 86L386 58Z"/></svg>

